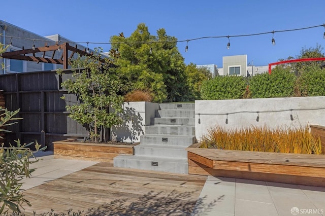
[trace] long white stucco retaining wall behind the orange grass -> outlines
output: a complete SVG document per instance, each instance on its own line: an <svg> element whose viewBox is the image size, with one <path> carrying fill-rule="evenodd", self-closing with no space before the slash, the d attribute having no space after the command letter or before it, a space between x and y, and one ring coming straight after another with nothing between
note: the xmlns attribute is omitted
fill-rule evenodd
<svg viewBox="0 0 325 216"><path fill-rule="evenodd" d="M196 100L195 113L200 141L217 125L226 129L325 125L325 97Z"/></svg>

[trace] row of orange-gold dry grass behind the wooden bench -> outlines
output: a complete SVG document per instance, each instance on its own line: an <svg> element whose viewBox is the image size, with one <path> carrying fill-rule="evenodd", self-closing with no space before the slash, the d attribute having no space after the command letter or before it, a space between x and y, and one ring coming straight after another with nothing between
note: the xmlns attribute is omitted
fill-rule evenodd
<svg viewBox="0 0 325 216"><path fill-rule="evenodd" d="M216 126L209 130L201 143L201 148L211 149L321 154L320 138L312 135L308 126L273 130L266 126L236 130L226 130Z"/></svg>

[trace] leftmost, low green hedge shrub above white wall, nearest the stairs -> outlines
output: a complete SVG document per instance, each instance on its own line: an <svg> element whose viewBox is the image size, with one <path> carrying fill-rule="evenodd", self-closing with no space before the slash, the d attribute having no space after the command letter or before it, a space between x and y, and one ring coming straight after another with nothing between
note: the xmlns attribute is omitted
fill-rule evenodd
<svg viewBox="0 0 325 216"><path fill-rule="evenodd" d="M222 100L243 98L246 81L241 76L218 76L203 82L201 98L203 100Z"/></svg>

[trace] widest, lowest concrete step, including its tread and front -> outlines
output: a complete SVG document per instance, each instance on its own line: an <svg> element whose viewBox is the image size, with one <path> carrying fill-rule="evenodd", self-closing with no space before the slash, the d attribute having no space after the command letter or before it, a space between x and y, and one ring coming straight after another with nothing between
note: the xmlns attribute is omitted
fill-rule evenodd
<svg viewBox="0 0 325 216"><path fill-rule="evenodd" d="M187 159L119 155L114 158L114 167L124 167L161 172L187 174Z"/></svg>

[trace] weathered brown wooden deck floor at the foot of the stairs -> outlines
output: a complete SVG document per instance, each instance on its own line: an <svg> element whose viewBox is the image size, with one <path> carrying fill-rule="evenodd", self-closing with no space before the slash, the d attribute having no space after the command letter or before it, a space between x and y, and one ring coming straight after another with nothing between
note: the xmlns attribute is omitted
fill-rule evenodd
<svg viewBox="0 0 325 216"><path fill-rule="evenodd" d="M25 215L83 210L88 215L189 215L206 176L94 166L28 189Z"/></svg>

